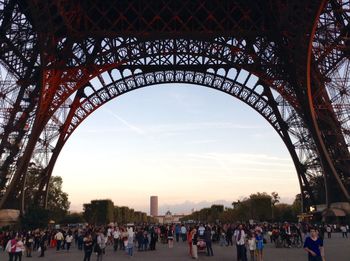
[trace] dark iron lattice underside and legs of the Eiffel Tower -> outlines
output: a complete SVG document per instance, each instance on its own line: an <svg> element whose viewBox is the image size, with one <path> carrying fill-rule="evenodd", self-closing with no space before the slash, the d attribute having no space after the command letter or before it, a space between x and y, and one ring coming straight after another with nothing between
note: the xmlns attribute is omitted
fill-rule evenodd
<svg viewBox="0 0 350 261"><path fill-rule="evenodd" d="M38 203L93 111L161 83L223 91L286 144L304 208L350 202L348 1L0 0L0 208ZM99 19L95 19L96 15Z"/></svg>

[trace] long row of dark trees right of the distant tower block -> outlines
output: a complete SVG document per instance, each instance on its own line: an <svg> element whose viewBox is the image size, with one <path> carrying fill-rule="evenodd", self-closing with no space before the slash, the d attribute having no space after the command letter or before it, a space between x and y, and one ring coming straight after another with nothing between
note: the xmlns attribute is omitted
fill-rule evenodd
<svg viewBox="0 0 350 261"><path fill-rule="evenodd" d="M239 222L239 221L273 221L273 222L295 222L297 215L301 213L300 195L297 195L293 204L279 203L278 193L271 195L266 192L251 194L242 200L232 202L232 207L224 208L223 205L212 205L203 208L182 218L182 221L197 222Z"/></svg>

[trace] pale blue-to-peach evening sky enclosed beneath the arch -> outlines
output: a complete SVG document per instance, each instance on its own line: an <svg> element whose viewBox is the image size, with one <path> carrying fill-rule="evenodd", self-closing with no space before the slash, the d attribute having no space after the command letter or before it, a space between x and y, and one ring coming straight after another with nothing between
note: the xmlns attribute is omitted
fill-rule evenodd
<svg viewBox="0 0 350 261"><path fill-rule="evenodd" d="M162 84L99 108L72 134L53 175L71 211L93 199L149 213L189 213L255 192L291 203L299 186L292 159L269 123L238 99L203 86Z"/></svg>

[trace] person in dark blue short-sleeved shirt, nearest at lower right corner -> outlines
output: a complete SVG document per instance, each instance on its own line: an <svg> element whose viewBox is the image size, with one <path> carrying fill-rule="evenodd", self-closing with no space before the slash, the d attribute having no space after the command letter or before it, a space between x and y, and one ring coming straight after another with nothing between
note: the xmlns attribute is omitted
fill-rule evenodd
<svg viewBox="0 0 350 261"><path fill-rule="evenodd" d="M305 239L304 249L308 253L309 261L324 260L323 240L315 228L310 229L310 236Z"/></svg>

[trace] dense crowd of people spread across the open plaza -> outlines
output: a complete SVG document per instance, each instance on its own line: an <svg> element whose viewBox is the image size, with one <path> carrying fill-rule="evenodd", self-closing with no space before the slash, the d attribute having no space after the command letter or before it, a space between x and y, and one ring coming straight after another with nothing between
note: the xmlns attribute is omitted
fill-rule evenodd
<svg viewBox="0 0 350 261"><path fill-rule="evenodd" d="M45 256L47 248L56 251L71 249L72 243L83 252L83 260L90 261L92 253L97 261L102 260L107 246L114 251L125 251L133 256L134 250L155 251L157 243L173 248L174 242L186 242L188 255L198 258L198 252L214 256L212 243L218 246L236 245L237 260L262 261L265 244L269 241L278 247L304 247L310 261L321 261L324 256L323 238L325 233L331 238L332 232L341 232L347 238L348 225L310 226L307 223L289 224L142 224L128 226L85 226L65 229L46 229L34 231L0 232L0 245L8 253L9 261L21 261L22 255L31 257L34 251Z"/></svg>

